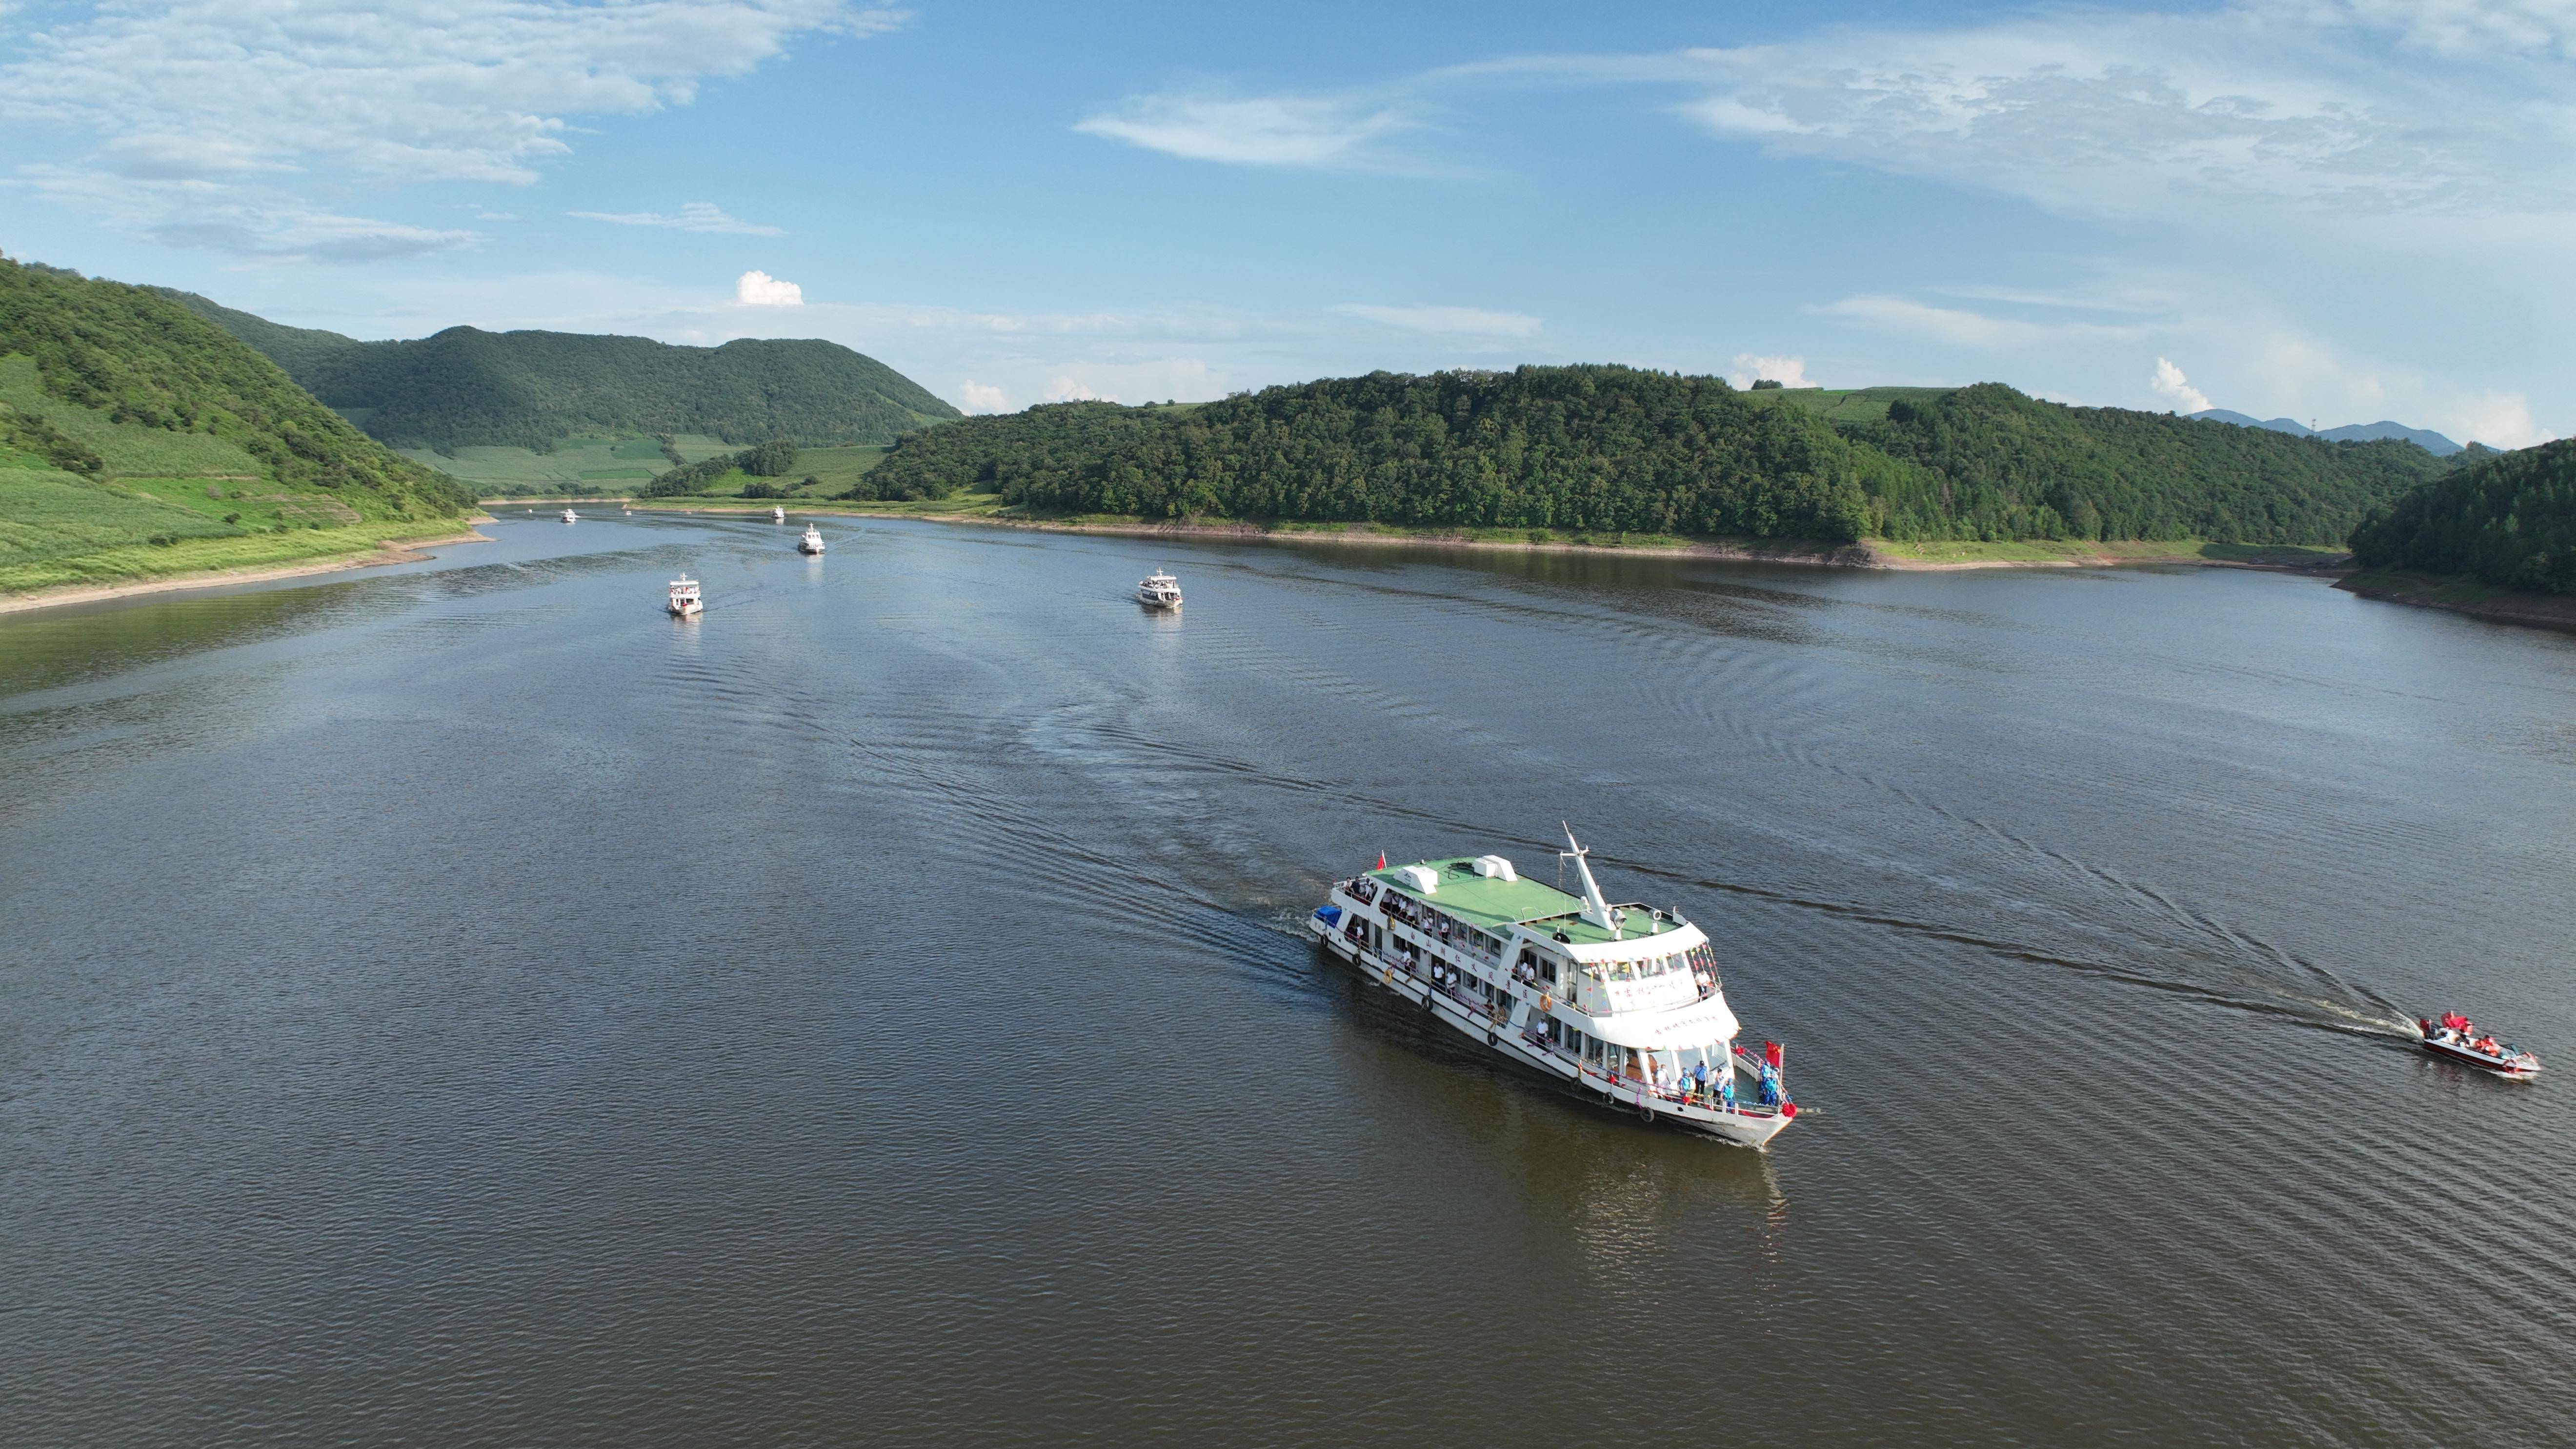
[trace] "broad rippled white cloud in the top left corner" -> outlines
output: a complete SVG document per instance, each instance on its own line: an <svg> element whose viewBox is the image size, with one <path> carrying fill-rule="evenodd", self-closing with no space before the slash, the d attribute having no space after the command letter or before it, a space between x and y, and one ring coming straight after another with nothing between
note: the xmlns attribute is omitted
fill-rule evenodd
<svg viewBox="0 0 2576 1449"><path fill-rule="evenodd" d="M577 116L685 106L801 34L899 21L845 0L111 0L13 36L0 119L88 139L21 168L54 201L270 248L353 183L526 183Z"/></svg>

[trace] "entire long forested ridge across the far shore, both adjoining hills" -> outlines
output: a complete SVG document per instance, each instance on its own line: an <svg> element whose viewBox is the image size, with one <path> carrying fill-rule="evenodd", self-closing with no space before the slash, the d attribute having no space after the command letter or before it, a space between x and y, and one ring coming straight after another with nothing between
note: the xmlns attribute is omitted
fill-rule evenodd
<svg viewBox="0 0 2576 1449"><path fill-rule="evenodd" d="M860 490L997 490L1064 513L1770 539L2334 544L2442 469L2002 384L1852 420L1780 389L1623 366L1370 374L1203 407L1066 402L902 438ZM1873 418L1873 413L1883 413Z"/></svg>

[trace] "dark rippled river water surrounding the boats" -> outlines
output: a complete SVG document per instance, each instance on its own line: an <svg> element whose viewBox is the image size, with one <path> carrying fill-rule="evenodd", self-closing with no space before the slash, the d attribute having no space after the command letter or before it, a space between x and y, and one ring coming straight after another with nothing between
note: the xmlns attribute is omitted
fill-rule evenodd
<svg viewBox="0 0 2576 1449"><path fill-rule="evenodd" d="M2576 639L489 531L0 619L0 1441L2576 1439L2576 1088L2401 1036L2576 1073ZM1303 936L1558 820L1788 1044L1770 1152Z"/></svg>

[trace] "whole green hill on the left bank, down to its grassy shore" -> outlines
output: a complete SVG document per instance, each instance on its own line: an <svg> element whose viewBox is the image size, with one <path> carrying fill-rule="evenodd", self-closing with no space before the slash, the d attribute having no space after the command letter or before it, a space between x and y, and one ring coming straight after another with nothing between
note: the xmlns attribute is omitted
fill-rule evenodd
<svg viewBox="0 0 2576 1449"><path fill-rule="evenodd" d="M350 554L466 505L167 297L0 258L0 590Z"/></svg>

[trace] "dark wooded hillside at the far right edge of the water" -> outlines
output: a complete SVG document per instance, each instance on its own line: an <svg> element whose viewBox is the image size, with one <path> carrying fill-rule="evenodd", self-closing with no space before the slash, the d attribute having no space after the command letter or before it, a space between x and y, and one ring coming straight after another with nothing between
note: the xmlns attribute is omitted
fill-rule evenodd
<svg viewBox="0 0 2576 1449"><path fill-rule="evenodd" d="M2576 438L2483 454L2419 485L2352 531L2352 557L2576 593Z"/></svg>

